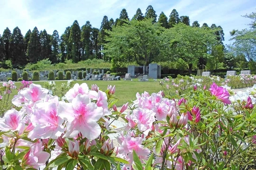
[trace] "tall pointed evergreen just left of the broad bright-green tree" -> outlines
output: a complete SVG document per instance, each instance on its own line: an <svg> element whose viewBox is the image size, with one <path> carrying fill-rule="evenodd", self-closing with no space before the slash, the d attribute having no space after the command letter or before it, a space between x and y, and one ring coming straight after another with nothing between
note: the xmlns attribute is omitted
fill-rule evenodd
<svg viewBox="0 0 256 170"><path fill-rule="evenodd" d="M103 17L103 20L101 22L100 26L100 35L99 35L99 43L100 43L100 50L104 49L103 44L106 43L105 41L105 30L110 30L109 20L107 16ZM99 56L99 55L98 55ZM99 56L100 59L102 59L102 56ZM104 56L104 60L107 60L107 58Z"/></svg>

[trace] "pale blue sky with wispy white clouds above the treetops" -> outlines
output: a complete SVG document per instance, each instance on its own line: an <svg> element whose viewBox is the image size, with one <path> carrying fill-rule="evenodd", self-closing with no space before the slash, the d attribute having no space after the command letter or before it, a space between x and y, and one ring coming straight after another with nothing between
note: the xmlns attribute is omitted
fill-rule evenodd
<svg viewBox="0 0 256 170"><path fill-rule="evenodd" d="M225 33L225 44L229 44L229 31L248 28L250 19L241 15L256 12L255 0L0 0L0 34L6 27L12 31L16 26L25 36L28 29L45 29L48 34L54 30L61 35L66 27L77 20L82 27L87 20L93 27L100 28L104 15L114 20L126 8L129 18L141 8L152 5L157 16L164 12L169 17L173 8L179 16L187 15L190 24L197 20L200 25L215 23ZM158 17L157 17L158 18Z"/></svg>

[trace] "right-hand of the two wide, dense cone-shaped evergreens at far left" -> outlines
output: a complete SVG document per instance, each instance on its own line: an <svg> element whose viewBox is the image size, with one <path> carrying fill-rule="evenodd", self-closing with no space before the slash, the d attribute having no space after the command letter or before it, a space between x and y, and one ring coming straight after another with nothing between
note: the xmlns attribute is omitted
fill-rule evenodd
<svg viewBox="0 0 256 170"><path fill-rule="evenodd" d="M28 42L27 56L30 63L36 63L41 54L40 36L37 27L35 27L30 35Z"/></svg>

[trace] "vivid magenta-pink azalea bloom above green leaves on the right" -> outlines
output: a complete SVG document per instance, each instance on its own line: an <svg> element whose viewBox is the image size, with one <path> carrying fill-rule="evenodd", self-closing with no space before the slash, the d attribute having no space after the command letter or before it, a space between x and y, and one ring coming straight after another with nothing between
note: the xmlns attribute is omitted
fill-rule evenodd
<svg viewBox="0 0 256 170"><path fill-rule="evenodd" d="M226 88L219 87L213 83L209 90L212 95L217 97L217 100L222 101L224 104L231 104L231 101L228 99L230 94Z"/></svg>

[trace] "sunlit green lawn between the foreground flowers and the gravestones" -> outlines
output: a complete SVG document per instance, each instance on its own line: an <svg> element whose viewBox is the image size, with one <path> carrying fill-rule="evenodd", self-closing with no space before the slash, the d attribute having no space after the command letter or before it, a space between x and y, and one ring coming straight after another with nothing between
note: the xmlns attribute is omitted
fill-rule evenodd
<svg viewBox="0 0 256 170"><path fill-rule="evenodd" d="M35 84L44 85L45 82L34 82ZM67 81L55 81L56 86L60 87L61 83L67 83ZM154 81L153 79L150 79L148 82L139 82L138 79L133 79L133 81L75 81L75 83L87 83L89 86L89 89L91 87L91 84L97 84L97 86L102 90L105 91L108 87L108 85L116 86L116 92L115 95L118 98L118 102L116 103L117 106L122 106L129 100L135 100L136 99L136 93L139 92L140 94L144 91L149 92L150 94L153 92L159 92L161 90L161 86L159 85L158 81ZM20 82L15 82L15 85L17 86L17 89L20 87ZM10 100L13 98L14 95L16 95L17 92L12 92L10 96ZM57 88L57 96L60 94L60 88Z"/></svg>

